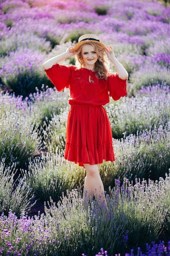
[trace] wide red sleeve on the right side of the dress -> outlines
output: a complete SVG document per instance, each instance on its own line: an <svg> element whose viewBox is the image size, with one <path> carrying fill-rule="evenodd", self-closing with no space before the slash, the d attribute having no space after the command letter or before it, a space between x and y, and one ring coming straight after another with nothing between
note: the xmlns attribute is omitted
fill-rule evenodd
<svg viewBox="0 0 170 256"><path fill-rule="evenodd" d="M115 101L127 95L126 92L126 80L119 78L118 73L109 74L107 78L109 96Z"/></svg>

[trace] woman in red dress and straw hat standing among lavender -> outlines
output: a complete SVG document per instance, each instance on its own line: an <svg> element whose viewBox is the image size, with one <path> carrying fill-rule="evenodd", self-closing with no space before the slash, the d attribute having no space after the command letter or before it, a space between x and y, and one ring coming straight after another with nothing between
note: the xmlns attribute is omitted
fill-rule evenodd
<svg viewBox="0 0 170 256"><path fill-rule="evenodd" d="M59 65L60 61L76 55L75 66ZM108 72L106 57L117 73ZM99 164L114 161L112 132L103 106L124 97L128 73L116 59L111 46L100 42L98 36L85 34L74 47L43 64L48 78L57 90L70 88L65 159L84 166L86 170L83 197L104 202L104 186Z"/></svg>

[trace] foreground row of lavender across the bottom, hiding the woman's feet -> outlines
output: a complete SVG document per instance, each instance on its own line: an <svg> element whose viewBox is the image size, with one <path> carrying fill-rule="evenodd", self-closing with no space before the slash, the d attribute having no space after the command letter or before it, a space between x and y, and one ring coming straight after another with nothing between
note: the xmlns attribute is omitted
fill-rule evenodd
<svg viewBox="0 0 170 256"><path fill-rule="evenodd" d="M109 255L169 256L170 242L151 243L162 229L170 229L169 191L170 175L156 182L135 179L134 184L124 178L106 197L109 212L93 199L85 203L81 189L72 189L57 204L50 199L45 215L2 213L0 255L94 256L102 247Z"/></svg>

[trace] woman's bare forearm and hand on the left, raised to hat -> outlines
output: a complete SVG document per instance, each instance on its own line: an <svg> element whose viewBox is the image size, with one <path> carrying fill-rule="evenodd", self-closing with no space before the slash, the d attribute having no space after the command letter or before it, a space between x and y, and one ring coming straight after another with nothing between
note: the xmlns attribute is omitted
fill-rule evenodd
<svg viewBox="0 0 170 256"><path fill-rule="evenodd" d="M48 61L43 63L43 68L44 70L48 70L49 68L51 68L53 65L59 63L60 61L65 60L66 58L70 58L72 56L74 56L76 53L73 51L72 46L70 46L65 52L63 52L62 54L55 56L53 58L50 58Z"/></svg>

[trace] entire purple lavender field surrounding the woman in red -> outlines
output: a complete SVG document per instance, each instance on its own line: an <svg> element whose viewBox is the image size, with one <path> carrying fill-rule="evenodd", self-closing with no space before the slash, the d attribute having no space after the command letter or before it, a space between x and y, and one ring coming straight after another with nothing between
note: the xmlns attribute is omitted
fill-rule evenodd
<svg viewBox="0 0 170 256"><path fill-rule="evenodd" d="M168 1L0 0L0 256L170 256L169 21ZM42 68L89 33L129 73L105 106L109 213L83 204L85 170L63 158L69 91Z"/></svg>

